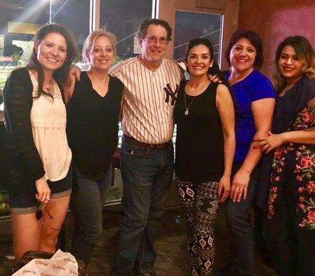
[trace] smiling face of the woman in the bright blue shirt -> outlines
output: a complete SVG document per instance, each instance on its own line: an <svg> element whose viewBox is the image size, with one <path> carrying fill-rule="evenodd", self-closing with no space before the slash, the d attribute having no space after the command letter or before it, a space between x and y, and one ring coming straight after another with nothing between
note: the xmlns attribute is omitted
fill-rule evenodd
<svg viewBox="0 0 315 276"><path fill-rule="evenodd" d="M230 52L232 68L238 72L253 70L255 59L256 48L252 43L245 37L238 39Z"/></svg>

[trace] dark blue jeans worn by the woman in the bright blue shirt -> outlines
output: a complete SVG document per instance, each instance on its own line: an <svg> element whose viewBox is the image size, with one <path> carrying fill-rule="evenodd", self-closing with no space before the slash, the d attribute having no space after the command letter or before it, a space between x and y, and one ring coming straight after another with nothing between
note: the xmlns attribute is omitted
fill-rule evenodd
<svg viewBox="0 0 315 276"><path fill-rule="evenodd" d="M242 163L233 166L233 175L241 168ZM227 230L230 237L229 275L250 276L254 268L254 230L250 223L250 208L258 177L256 167L250 176L246 199L233 202L228 198L225 206Z"/></svg>

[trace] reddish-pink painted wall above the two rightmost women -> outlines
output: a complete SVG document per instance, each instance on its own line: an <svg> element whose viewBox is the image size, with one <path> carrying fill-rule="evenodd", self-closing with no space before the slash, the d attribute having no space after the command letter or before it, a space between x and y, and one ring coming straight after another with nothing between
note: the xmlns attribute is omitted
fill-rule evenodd
<svg viewBox="0 0 315 276"><path fill-rule="evenodd" d="M261 36L265 56L261 71L272 77L276 47L285 37L303 35L315 48L315 0L241 0L238 26Z"/></svg>

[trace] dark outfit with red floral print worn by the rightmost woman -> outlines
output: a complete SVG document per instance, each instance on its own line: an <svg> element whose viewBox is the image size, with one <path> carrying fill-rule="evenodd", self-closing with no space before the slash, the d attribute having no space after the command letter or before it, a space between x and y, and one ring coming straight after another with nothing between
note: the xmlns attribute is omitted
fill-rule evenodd
<svg viewBox="0 0 315 276"><path fill-rule="evenodd" d="M315 130L315 78L276 97L272 132ZM315 144L286 143L264 156L256 204L267 211L263 237L277 275L314 276Z"/></svg>

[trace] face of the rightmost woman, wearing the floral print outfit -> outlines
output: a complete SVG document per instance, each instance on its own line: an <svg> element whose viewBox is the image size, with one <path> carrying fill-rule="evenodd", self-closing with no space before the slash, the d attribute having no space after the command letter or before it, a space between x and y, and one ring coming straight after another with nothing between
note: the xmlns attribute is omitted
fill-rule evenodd
<svg viewBox="0 0 315 276"><path fill-rule="evenodd" d="M303 76L303 66L305 66L305 60L296 56L296 51L292 46L285 46L278 60L278 68L287 79L287 83L295 83Z"/></svg>

